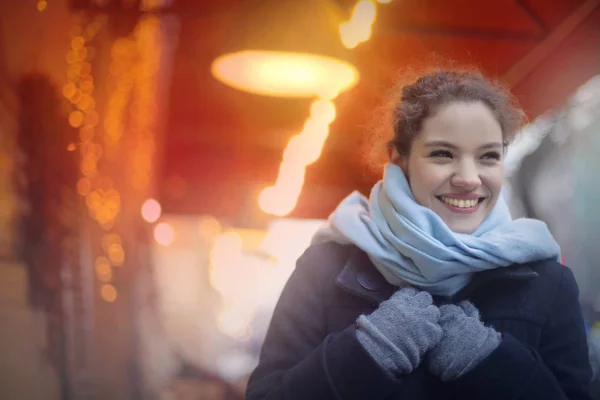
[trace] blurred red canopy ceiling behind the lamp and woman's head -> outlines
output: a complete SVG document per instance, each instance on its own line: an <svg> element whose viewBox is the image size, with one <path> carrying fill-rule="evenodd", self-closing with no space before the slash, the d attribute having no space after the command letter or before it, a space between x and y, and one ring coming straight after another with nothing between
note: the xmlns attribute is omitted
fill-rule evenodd
<svg viewBox="0 0 600 400"><path fill-rule="evenodd" d="M339 2L348 9L351 0ZM325 217L351 190L368 191L361 163L365 126L397 71L432 53L502 76L560 27L583 0L392 0L381 6L373 37L355 50L360 83L337 100L338 118L321 159L309 167L293 215ZM241 0L179 0L184 12L171 85L165 184L171 213L211 213L236 224L265 220L260 188L277 176L281 152L309 102L236 91L210 75ZM600 72L600 7L514 87L535 116L559 105ZM179 182L179 189L173 189Z"/></svg>

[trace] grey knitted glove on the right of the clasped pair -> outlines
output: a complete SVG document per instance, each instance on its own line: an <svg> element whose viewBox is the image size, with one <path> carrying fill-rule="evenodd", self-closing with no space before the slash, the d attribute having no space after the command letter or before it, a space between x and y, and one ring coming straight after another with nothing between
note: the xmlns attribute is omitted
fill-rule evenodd
<svg viewBox="0 0 600 400"><path fill-rule="evenodd" d="M501 335L486 327L479 311L469 301L440 307L439 324L444 336L429 353L429 370L444 382L457 379L475 368L500 344Z"/></svg>

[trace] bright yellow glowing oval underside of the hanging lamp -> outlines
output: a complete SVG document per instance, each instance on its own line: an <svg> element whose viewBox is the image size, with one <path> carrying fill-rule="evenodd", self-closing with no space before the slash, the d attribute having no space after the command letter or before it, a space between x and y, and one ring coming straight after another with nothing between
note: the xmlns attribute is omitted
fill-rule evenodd
<svg viewBox="0 0 600 400"><path fill-rule="evenodd" d="M236 89L277 97L333 98L359 77L353 65L335 58L254 50L217 58L212 73Z"/></svg>

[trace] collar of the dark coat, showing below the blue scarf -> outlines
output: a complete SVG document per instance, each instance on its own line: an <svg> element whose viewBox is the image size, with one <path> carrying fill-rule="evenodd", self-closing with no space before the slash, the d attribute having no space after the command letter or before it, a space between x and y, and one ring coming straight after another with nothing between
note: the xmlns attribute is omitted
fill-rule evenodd
<svg viewBox="0 0 600 400"><path fill-rule="evenodd" d="M515 264L504 268L494 268L481 271L467 286L450 298L436 296L439 302L459 302L466 299L478 287L496 280L530 280L538 273L523 264ZM388 283L383 275L373 265L367 254L354 247L344 268L336 278L336 285L345 291L379 305L387 300L397 287Z"/></svg>

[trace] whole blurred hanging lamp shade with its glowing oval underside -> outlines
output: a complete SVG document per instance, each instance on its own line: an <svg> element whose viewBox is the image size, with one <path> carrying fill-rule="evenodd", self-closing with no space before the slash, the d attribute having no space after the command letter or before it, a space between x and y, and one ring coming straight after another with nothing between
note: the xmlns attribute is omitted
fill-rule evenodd
<svg viewBox="0 0 600 400"><path fill-rule="evenodd" d="M211 72L251 93L333 98L358 71L340 40L340 10L328 0L247 1Z"/></svg>

